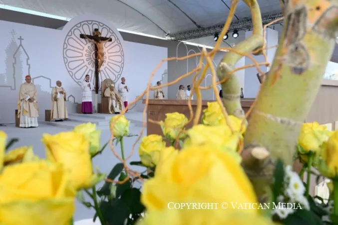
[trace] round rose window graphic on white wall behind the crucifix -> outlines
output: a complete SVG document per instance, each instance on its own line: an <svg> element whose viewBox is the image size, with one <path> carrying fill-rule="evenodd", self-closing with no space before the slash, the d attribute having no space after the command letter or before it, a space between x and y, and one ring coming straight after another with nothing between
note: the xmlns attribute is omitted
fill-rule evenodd
<svg viewBox="0 0 338 225"><path fill-rule="evenodd" d="M115 32L104 23L94 20L82 21L67 32L63 43L64 64L78 85L81 85L86 74L90 75L90 82L95 83L95 45L87 39L80 38L80 34L93 35L96 28L102 37L111 38L111 41L103 44L104 62L99 73L99 85L106 78L118 81L123 71L123 48Z"/></svg>

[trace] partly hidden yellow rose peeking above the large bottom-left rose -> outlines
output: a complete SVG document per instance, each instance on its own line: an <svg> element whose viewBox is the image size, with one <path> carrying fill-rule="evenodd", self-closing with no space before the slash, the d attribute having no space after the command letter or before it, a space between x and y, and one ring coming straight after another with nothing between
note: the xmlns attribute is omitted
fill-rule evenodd
<svg viewBox="0 0 338 225"><path fill-rule="evenodd" d="M22 146L6 152L3 158L3 164L28 162L38 159L38 156L34 155L32 146Z"/></svg>

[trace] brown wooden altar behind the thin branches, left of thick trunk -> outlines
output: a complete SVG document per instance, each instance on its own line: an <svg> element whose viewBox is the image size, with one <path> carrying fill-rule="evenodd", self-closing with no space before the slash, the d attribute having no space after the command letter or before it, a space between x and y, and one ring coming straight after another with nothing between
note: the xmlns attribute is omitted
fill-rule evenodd
<svg viewBox="0 0 338 225"><path fill-rule="evenodd" d="M255 98L242 98L241 103L243 110L247 112L254 102ZM212 100L202 100L202 110L207 107L207 102ZM143 99L145 103L145 99ZM191 106L193 112L195 113L197 100L191 100ZM164 120L165 114L170 112L179 112L185 114L187 118L190 117L190 111L188 107L188 100L166 100L166 99L149 99L149 104L147 108L147 135L149 134L159 134L162 135L161 127L158 124L154 124L148 121L152 119L155 121ZM190 128L192 122L186 126Z"/></svg>

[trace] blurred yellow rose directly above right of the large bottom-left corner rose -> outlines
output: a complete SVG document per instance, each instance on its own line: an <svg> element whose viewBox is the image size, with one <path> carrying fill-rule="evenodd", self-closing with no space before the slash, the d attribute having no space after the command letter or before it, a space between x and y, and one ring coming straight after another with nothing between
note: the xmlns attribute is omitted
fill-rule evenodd
<svg viewBox="0 0 338 225"><path fill-rule="evenodd" d="M89 140L84 134L74 131L43 134L42 142L47 159L63 164L76 189L90 187L93 171Z"/></svg>

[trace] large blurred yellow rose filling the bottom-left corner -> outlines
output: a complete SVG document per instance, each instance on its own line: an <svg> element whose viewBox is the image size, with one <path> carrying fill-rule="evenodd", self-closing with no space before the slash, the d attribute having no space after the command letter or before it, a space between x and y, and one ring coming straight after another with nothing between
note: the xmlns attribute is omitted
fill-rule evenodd
<svg viewBox="0 0 338 225"><path fill-rule="evenodd" d="M0 174L0 224L68 224L74 197L60 164L34 161L6 166Z"/></svg>

